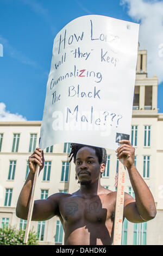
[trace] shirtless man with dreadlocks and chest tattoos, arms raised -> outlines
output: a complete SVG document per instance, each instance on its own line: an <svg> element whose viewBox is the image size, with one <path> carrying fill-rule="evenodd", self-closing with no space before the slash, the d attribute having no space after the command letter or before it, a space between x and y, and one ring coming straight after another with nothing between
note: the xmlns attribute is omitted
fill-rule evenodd
<svg viewBox="0 0 163 256"><path fill-rule="evenodd" d="M127 140L116 150L118 159L126 157L126 167L135 199L128 193L124 196L124 217L140 223L152 220L156 208L152 193L134 165L135 149ZM35 200L33 221L46 221L58 216L65 232L65 245L111 245L113 239L116 193L101 186L101 175L105 170L103 149L78 147L72 144L72 155L76 164L76 179L80 189L72 194L55 193L44 200ZM72 159L71 157L71 159ZM30 194L36 163L43 168L43 151L37 148L29 157L29 175L18 198L16 215L27 220Z"/></svg>

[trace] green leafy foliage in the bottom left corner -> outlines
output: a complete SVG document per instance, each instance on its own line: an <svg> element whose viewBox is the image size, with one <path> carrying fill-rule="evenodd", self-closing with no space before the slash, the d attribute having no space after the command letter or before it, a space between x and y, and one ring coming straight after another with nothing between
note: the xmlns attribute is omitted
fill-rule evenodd
<svg viewBox="0 0 163 256"><path fill-rule="evenodd" d="M25 231L15 227L0 228L0 245L26 245L24 241ZM37 245L37 234L30 230L28 236L28 245Z"/></svg>

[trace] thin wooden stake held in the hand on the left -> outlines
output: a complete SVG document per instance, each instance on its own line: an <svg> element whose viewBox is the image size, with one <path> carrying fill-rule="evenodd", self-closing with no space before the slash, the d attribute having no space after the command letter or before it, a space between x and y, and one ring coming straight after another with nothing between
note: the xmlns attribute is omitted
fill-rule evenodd
<svg viewBox="0 0 163 256"><path fill-rule="evenodd" d="M30 197L30 204L29 204L29 211L28 211L28 218L27 218L27 226L26 226L26 232L24 236L24 243L28 243L28 236L29 236L29 230L30 230L30 222L32 219L32 214L33 214L33 206L34 206L34 194L35 194L35 187L36 187L36 182L37 178L39 176L39 164L36 165L36 171L34 175L34 181L33 181L33 187L32 187L32 194Z"/></svg>

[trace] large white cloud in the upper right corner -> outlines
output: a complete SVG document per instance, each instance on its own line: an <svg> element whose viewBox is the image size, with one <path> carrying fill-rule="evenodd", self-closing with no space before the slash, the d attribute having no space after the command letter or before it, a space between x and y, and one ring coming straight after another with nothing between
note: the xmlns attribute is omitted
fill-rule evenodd
<svg viewBox="0 0 163 256"><path fill-rule="evenodd" d="M158 76L163 82L163 1L121 0L128 15L140 23L140 50L147 50L148 77Z"/></svg>

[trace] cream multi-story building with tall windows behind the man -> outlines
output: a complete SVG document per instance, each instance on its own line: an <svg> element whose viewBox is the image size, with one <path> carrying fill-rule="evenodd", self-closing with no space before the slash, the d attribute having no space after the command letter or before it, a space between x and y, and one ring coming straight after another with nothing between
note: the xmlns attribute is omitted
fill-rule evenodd
<svg viewBox="0 0 163 256"><path fill-rule="evenodd" d="M163 113L158 113L158 78L147 76L147 51L139 50L130 142L135 147L135 164L152 191L157 215L149 222L123 223L123 245L163 244ZM41 121L0 123L0 226L10 224L26 228L27 221L16 217L18 195L27 178L28 157L39 145ZM69 163L70 143L44 150L45 167L39 175L35 199L45 199L57 192L72 193L79 189L74 163ZM118 168L116 153L107 150L108 161L101 184L115 191ZM134 197L128 174L125 191ZM62 244L64 232L58 217L32 222L40 244Z"/></svg>

